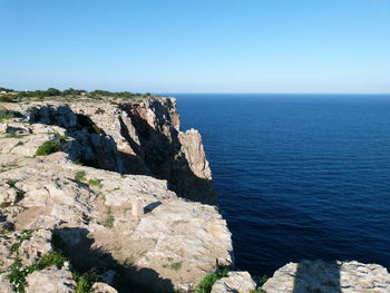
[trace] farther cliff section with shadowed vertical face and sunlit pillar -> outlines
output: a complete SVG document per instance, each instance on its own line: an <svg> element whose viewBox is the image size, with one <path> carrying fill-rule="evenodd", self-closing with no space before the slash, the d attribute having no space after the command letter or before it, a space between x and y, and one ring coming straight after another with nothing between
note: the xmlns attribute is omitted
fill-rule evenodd
<svg viewBox="0 0 390 293"><path fill-rule="evenodd" d="M74 138L66 152L85 165L166 179L178 196L216 204L198 131L179 130L174 98L139 102L52 102L17 108L28 119L64 128Z"/></svg>

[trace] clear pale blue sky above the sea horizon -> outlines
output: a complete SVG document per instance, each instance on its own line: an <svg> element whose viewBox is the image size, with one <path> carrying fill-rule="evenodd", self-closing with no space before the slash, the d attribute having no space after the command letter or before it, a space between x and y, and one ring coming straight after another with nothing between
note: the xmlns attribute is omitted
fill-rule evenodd
<svg viewBox="0 0 390 293"><path fill-rule="evenodd" d="M390 0L0 0L0 86L390 92Z"/></svg>

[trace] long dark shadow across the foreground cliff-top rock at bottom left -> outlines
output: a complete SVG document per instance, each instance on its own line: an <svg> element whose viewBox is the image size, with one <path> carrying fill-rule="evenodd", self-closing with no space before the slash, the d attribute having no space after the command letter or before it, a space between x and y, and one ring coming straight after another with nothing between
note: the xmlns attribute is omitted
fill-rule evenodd
<svg viewBox="0 0 390 293"><path fill-rule="evenodd" d="M71 266L81 273L91 268L100 273L115 271L116 276L111 285L119 293L174 292L172 282L162 279L156 271L120 264L110 253L101 247L95 247L95 240L89 236L89 231L86 228L57 228L55 235L60 240L58 246L70 260Z"/></svg>

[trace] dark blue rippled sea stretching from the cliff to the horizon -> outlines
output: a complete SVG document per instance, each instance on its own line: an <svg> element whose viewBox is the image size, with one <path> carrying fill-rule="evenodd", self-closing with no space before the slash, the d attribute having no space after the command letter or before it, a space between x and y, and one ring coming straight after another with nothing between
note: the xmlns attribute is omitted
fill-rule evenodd
<svg viewBox="0 0 390 293"><path fill-rule="evenodd" d="M174 96L203 135L237 267L390 267L390 96Z"/></svg>

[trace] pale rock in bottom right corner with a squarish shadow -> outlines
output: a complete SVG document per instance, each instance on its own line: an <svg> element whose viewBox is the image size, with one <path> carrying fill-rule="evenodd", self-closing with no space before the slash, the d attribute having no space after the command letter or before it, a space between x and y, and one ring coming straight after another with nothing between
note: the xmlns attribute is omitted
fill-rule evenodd
<svg viewBox="0 0 390 293"><path fill-rule="evenodd" d="M303 261L277 270L262 289L267 293L387 293L390 274L378 264Z"/></svg>

